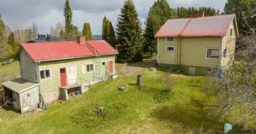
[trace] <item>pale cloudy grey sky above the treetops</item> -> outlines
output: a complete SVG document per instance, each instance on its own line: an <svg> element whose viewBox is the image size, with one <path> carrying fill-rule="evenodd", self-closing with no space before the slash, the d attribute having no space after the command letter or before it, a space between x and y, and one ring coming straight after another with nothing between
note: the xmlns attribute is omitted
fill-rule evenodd
<svg viewBox="0 0 256 134"><path fill-rule="evenodd" d="M102 19L106 15L113 26L124 0L69 0L73 10L73 24L81 30L84 22L89 22L92 34L101 34ZM139 12L141 23L156 0L133 0ZM171 7L213 7L223 11L226 0L167 0ZM13 29L16 25L28 27L35 22L40 34L49 33L51 26L64 25L65 0L0 0L0 13L5 24Z"/></svg>

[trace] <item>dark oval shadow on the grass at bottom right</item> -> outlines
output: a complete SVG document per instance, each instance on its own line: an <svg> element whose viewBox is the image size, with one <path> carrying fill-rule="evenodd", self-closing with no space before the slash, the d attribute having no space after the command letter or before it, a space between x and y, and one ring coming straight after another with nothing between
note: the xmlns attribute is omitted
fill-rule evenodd
<svg viewBox="0 0 256 134"><path fill-rule="evenodd" d="M150 116L170 123L179 124L179 127L185 129L215 129L220 130L223 124L220 124L218 117L207 115L197 107L189 105L160 106L152 111Z"/></svg>

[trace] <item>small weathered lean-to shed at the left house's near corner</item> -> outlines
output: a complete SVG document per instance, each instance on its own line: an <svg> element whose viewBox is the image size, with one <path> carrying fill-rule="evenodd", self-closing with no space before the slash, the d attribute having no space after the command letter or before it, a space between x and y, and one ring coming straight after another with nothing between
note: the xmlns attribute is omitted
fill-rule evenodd
<svg viewBox="0 0 256 134"><path fill-rule="evenodd" d="M3 103L26 113L36 109L39 103L39 84L23 78L2 83Z"/></svg>

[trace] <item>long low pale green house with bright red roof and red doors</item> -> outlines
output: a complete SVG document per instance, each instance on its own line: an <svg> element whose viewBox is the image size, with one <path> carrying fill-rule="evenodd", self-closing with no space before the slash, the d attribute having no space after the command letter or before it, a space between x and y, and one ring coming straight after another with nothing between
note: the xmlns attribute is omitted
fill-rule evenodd
<svg viewBox="0 0 256 134"><path fill-rule="evenodd" d="M86 92L90 84L116 77L118 52L102 40L80 37L75 42L24 43L22 47L21 78L38 84L45 103L67 100L74 93Z"/></svg>

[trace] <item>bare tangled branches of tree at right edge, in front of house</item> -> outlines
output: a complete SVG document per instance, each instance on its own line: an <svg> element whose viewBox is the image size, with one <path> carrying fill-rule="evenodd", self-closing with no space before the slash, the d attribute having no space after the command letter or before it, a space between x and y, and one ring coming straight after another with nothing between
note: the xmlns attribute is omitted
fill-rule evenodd
<svg viewBox="0 0 256 134"><path fill-rule="evenodd" d="M210 70L207 88L216 96L216 111L222 117L231 115L233 123L256 124L256 35L255 29L238 38L236 61ZM226 53L228 54L228 52ZM230 54L234 58L234 54ZM214 111L214 112L216 112Z"/></svg>

